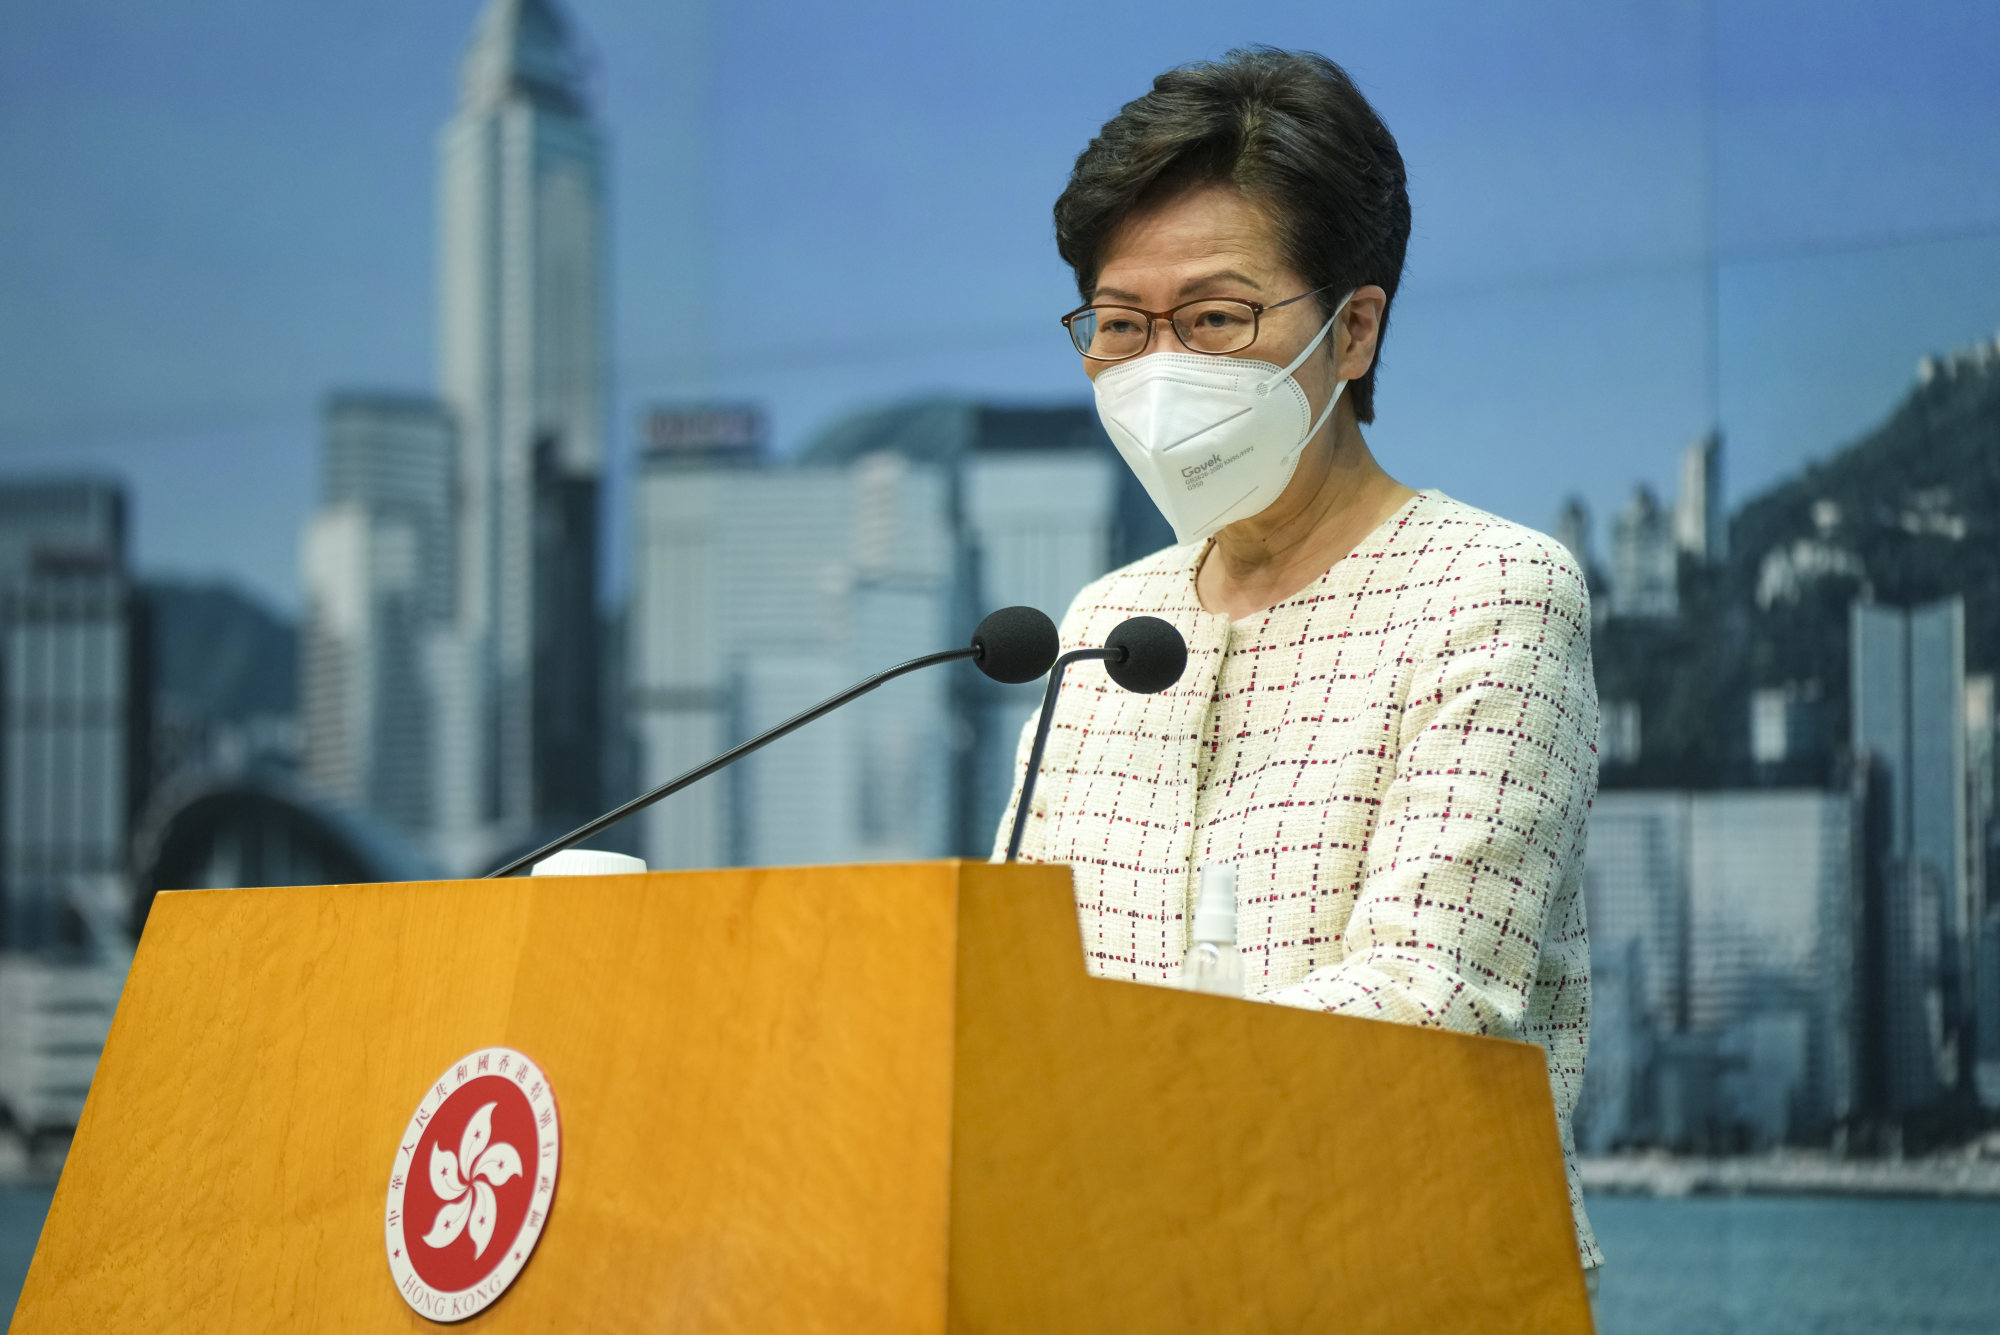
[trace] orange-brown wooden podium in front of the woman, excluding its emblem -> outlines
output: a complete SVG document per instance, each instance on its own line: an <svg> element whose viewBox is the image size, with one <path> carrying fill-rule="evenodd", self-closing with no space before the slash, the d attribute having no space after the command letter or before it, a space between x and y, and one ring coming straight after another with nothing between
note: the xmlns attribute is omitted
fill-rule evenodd
<svg viewBox="0 0 2000 1335"><path fill-rule="evenodd" d="M16 1331L418 1331L436 1073L560 1101L482 1331L1588 1331L1542 1053L1090 979L1066 867L160 895Z"/></svg>

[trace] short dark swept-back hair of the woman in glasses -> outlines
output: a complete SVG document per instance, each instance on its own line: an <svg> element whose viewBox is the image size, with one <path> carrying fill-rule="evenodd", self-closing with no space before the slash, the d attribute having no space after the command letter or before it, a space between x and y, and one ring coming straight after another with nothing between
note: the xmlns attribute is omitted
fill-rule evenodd
<svg viewBox="0 0 2000 1335"><path fill-rule="evenodd" d="M1076 290L1096 296L1104 246L1136 212L1198 186L1234 186L1262 204L1322 318L1362 284L1396 298L1410 244L1410 188L1388 126L1326 56L1270 46L1168 70L1118 108L1076 158L1056 200L1056 250ZM1388 332L1388 308L1382 310ZM1374 422L1374 374L1348 386Z"/></svg>

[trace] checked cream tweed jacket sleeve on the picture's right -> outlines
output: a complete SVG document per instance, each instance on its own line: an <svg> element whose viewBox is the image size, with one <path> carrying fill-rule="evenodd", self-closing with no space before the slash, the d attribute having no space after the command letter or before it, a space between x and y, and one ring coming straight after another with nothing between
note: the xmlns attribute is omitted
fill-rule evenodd
<svg viewBox="0 0 2000 1335"><path fill-rule="evenodd" d="M1590 596L1554 544L1468 558L1410 671L1344 957L1268 1001L1518 1037L1596 795Z"/></svg>

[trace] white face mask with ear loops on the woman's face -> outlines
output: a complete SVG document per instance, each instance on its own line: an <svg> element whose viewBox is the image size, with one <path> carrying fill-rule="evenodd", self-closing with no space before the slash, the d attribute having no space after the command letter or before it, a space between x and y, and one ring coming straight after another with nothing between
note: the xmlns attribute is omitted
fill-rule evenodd
<svg viewBox="0 0 2000 1335"><path fill-rule="evenodd" d="M1318 420L1292 372L1320 346L1354 294L1340 298L1290 366L1198 352L1156 352L1098 374L1098 418L1176 542L1202 542L1284 492L1306 442L1326 424L1346 380Z"/></svg>

